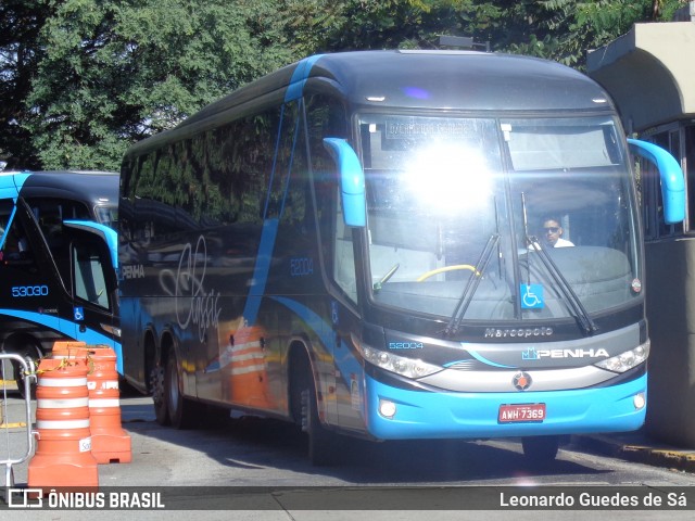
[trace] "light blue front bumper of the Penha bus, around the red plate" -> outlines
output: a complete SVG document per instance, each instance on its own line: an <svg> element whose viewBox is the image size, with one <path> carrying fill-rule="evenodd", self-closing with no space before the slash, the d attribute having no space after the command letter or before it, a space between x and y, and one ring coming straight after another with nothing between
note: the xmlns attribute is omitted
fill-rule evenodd
<svg viewBox="0 0 695 521"><path fill-rule="evenodd" d="M413 391L365 378L367 430L380 440L627 432L640 429L646 415L646 373L612 386L518 393ZM502 406L521 404L543 409L543 419L500 420Z"/></svg>

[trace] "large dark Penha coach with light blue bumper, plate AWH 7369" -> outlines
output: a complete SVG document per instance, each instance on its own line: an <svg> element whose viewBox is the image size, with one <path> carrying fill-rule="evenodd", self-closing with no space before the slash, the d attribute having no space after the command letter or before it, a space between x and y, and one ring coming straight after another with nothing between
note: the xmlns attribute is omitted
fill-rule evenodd
<svg viewBox="0 0 695 521"><path fill-rule="evenodd" d="M665 208L683 212L660 149ZM134 145L125 378L157 420L371 440L640 428L649 353L632 160L585 76L477 52L316 55ZM559 247L560 245L566 247ZM214 407L212 407L214 408Z"/></svg>

